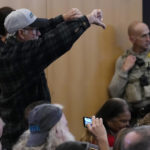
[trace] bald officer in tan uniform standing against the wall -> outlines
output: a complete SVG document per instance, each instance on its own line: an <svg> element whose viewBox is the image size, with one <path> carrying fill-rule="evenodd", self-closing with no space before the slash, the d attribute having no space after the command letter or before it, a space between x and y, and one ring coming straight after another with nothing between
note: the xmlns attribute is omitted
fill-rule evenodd
<svg viewBox="0 0 150 150"><path fill-rule="evenodd" d="M132 47L117 59L109 85L111 97L126 99L140 111L150 104L150 30L139 21L128 27Z"/></svg>

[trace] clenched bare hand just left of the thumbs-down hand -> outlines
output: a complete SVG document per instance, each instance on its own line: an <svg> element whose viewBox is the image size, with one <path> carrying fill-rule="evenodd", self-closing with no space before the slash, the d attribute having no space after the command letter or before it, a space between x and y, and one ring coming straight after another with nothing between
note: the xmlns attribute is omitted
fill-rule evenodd
<svg viewBox="0 0 150 150"><path fill-rule="evenodd" d="M63 14L63 18L65 21L73 20L82 17L83 14L77 8L72 8L68 12Z"/></svg>

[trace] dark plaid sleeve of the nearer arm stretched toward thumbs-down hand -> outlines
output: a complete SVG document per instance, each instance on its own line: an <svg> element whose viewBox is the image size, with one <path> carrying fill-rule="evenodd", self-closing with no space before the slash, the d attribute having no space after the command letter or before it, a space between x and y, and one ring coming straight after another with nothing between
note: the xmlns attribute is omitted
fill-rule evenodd
<svg viewBox="0 0 150 150"><path fill-rule="evenodd" d="M62 56L77 39L89 28L86 16L73 21L63 21L50 29L40 39L22 43L21 66L29 72L44 70L49 64Z"/></svg>

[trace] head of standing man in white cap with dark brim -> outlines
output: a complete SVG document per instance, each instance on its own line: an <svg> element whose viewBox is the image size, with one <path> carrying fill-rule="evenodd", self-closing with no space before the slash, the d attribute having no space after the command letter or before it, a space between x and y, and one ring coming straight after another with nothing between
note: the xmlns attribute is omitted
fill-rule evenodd
<svg viewBox="0 0 150 150"><path fill-rule="evenodd" d="M41 35L39 28L44 28L47 24L47 19L37 18L25 8L12 11L4 22L8 33L15 34L20 41L38 39Z"/></svg>

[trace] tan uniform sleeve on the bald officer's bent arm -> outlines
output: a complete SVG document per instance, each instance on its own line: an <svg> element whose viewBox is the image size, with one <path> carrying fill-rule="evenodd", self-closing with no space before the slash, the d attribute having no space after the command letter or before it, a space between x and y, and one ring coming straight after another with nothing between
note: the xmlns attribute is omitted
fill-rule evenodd
<svg viewBox="0 0 150 150"><path fill-rule="evenodd" d="M109 94L111 97L123 97L125 92L126 84L128 82L128 73L123 72L121 69L123 61L122 56L117 59L115 73L109 85Z"/></svg>

